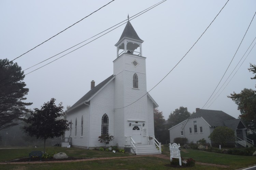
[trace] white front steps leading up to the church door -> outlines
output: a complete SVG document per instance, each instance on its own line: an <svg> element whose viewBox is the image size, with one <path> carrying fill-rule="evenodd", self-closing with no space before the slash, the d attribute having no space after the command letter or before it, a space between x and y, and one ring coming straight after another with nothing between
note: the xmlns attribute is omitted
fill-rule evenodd
<svg viewBox="0 0 256 170"><path fill-rule="evenodd" d="M161 154L155 145L137 145L137 147L136 155ZM135 153L135 148L132 148L131 151Z"/></svg>

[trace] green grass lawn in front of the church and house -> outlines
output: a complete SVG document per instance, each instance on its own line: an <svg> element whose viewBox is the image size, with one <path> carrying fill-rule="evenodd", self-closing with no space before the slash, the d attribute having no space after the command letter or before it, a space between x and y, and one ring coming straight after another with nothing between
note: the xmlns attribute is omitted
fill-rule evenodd
<svg viewBox="0 0 256 170"><path fill-rule="evenodd" d="M31 151L43 150L43 148L24 148L24 149L0 149L0 162L20 157L27 157ZM117 159L93 160L86 162L65 162L65 163L42 163L42 164L5 164L0 165L0 169L173 169L167 167L169 159L158 157L143 156L136 157L128 154L87 150L81 148L61 148L47 147L47 153L65 152L70 157L120 157ZM163 147L163 154L170 156L169 147ZM122 158L129 156L129 158ZM238 169L256 164L256 157L228 155L213 152L204 152L191 149L182 149L181 156L193 158L197 162L226 165L228 168L199 165L185 169ZM183 168L179 168L183 169Z"/></svg>

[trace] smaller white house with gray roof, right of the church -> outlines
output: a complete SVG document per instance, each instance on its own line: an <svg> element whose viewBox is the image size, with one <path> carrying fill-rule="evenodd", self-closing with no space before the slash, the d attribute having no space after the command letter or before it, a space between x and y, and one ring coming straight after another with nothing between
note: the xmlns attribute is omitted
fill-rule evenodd
<svg viewBox="0 0 256 170"><path fill-rule="evenodd" d="M197 143L204 138L210 145L214 144L208 136L218 126L227 126L232 129L236 135L236 143L242 146L252 146L253 141L248 139L246 131L248 130L241 119L236 119L225 112L206 110L196 108L196 113L188 119L169 129L170 142L176 137L188 139L188 143ZM235 144L235 142L233 142Z"/></svg>

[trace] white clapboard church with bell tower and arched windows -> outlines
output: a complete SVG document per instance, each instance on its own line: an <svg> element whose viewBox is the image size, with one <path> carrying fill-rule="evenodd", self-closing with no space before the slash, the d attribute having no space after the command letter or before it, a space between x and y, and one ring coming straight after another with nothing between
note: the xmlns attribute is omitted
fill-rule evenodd
<svg viewBox="0 0 256 170"><path fill-rule="evenodd" d="M97 86L91 81L87 94L68 109L66 119L72 124L62 147L99 148L104 146L99 136L110 134L114 139L107 146L118 144L138 155L161 153L154 138L153 108L158 104L147 93L142 43L128 21L115 44L113 75Z"/></svg>

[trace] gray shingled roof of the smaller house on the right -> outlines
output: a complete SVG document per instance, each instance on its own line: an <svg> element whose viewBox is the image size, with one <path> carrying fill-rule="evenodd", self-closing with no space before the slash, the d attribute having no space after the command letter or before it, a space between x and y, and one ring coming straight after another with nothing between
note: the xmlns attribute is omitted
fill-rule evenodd
<svg viewBox="0 0 256 170"><path fill-rule="evenodd" d="M202 117L210 126L225 126L224 121L236 120L236 118L222 111L200 109L198 112L191 115L189 118ZM228 122L227 122L228 123Z"/></svg>

